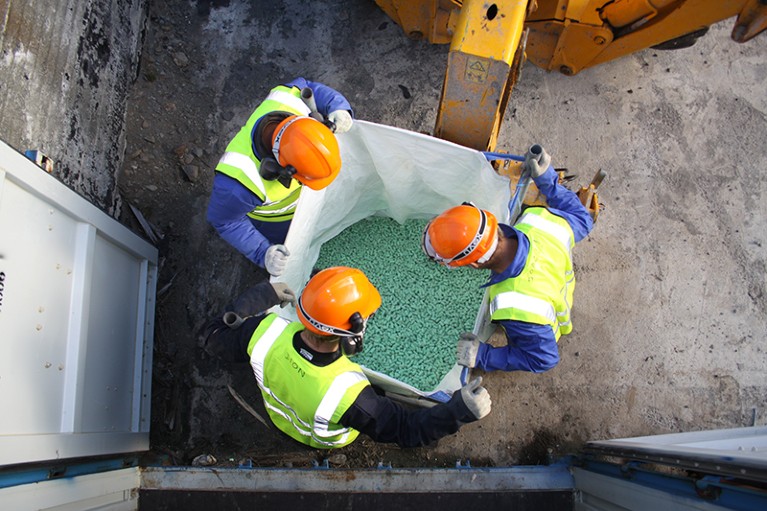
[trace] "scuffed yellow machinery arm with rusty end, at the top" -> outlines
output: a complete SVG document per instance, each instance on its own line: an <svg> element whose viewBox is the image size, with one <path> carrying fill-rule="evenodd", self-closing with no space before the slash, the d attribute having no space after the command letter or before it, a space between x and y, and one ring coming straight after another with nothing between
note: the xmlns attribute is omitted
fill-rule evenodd
<svg viewBox="0 0 767 511"><path fill-rule="evenodd" d="M450 43L434 135L495 148L525 59L583 69L649 48L685 47L738 16L732 38L767 27L767 0L376 0L408 37Z"/></svg>

